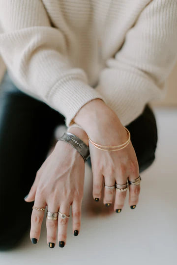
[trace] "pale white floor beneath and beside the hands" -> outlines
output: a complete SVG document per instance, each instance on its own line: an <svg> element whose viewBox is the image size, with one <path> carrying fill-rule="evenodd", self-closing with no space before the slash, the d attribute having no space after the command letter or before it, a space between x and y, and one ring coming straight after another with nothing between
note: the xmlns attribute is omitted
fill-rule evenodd
<svg viewBox="0 0 177 265"><path fill-rule="evenodd" d="M0 264L176 265L177 108L154 108L154 112L158 126L156 160L141 174L135 210L128 207L127 196L121 213L101 214L101 203L91 196L91 171L86 164L80 235L72 235L70 219L65 247L50 249L43 222L36 245L27 235L18 248L0 252Z"/></svg>

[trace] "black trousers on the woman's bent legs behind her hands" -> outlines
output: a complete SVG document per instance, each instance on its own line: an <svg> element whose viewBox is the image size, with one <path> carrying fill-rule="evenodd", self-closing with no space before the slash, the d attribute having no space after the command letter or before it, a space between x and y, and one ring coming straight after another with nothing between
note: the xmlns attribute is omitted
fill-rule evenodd
<svg viewBox="0 0 177 265"><path fill-rule="evenodd" d="M0 250L16 246L30 227L33 202L24 197L60 124L64 117L58 111L20 91L5 73L0 85ZM142 172L155 159L157 127L151 108L146 105L126 128Z"/></svg>

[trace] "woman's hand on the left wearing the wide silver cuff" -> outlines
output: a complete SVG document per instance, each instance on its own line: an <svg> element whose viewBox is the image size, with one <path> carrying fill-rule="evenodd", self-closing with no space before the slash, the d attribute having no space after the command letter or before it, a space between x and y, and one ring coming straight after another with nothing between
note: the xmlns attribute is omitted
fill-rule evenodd
<svg viewBox="0 0 177 265"><path fill-rule="evenodd" d="M76 134L86 144L88 137L80 128L70 128L69 132ZM45 143L44 143L45 144ZM30 189L27 202L33 201L34 207L45 208L49 212L61 212L69 215L72 205L73 234L77 236L81 225L81 204L83 199L85 162L82 156L71 145L58 141L53 152L47 157L36 174ZM33 243L40 237L44 212L32 210L30 238ZM46 218L47 243L54 247L57 239L63 247L66 243L68 218L49 220ZM51 244L53 243L53 244Z"/></svg>

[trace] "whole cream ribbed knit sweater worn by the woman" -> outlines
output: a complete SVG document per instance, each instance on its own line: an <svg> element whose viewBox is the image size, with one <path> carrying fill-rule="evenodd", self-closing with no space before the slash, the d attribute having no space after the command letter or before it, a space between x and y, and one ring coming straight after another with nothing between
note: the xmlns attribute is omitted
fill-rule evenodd
<svg viewBox="0 0 177 265"><path fill-rule="evenodd" d="M13 82L66 126L95 98L126 126L164 98L177 61L177 0L0 0L0 24Z"/></svg>

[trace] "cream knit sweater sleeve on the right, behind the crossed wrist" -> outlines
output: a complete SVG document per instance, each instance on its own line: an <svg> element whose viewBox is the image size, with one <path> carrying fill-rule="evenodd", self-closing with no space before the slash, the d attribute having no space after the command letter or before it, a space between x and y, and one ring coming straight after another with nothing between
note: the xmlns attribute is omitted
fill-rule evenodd
<svg viewBox="0 0 177 265"><path fill-rule="evenodd" d="M125 36L121 49L106 61L95 89L123 126L145 105L163 99L177 61L177 0L152 0Z"/></svg>

